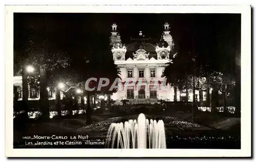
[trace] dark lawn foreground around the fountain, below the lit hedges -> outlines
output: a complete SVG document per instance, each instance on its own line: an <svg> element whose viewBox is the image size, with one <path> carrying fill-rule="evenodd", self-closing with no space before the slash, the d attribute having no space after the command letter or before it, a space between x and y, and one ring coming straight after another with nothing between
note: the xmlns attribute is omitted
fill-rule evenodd
<svg viewBox="0 0 256 162"><path fill-rule="evenodd" d="M32 120L27 127L14 129L13 147L108 148L106 134L110 124L134 120L138 115L94 115L94 123L88 126L84 126L84 115L76 119L51 119L48 123ZM211 119L207 115L198 114L200 124L189 122L190 113L175 113L172 117L146 114L146 118L163 120L168 149L241 149L240 119Z"/></svg>

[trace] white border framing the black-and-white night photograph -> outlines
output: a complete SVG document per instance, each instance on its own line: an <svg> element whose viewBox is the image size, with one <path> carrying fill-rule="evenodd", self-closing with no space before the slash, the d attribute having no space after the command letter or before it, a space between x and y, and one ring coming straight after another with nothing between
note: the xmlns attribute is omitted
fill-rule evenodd
<svg viewBox="0 0 256 162"><path fill-rule="evenodd" d="M241 150L222 149L13 149L13 13L241 13ZM251 156L250 6L6 6L5 138L7 157L246 157ZM90 23L90 22L89 22Z"/></svg>

